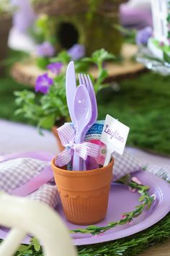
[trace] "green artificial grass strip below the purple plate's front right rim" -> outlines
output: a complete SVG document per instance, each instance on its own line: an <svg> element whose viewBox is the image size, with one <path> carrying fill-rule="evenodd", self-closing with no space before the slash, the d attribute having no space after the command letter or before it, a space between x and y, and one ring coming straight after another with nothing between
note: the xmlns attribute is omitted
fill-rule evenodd
<svg viewBox="0 0 170 256"><path fill-rule="evenodd" d="M117 239L115 242L79 247L79 256L135 256L147 247L170 237L170 214L146 231Z"/></svg>

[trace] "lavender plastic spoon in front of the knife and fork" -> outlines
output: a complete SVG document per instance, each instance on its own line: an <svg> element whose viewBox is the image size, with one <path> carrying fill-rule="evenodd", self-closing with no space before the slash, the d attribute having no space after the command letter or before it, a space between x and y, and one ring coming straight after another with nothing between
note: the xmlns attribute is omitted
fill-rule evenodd
<svg viewBox="0 0 170 256"><path fill-rule="evenodd" d="M79 85L76 88L76 93L73 101L73 114L76 121L76 137L75 142L81 142L82 133L85 127L89 126L91 121L91 99L84 85ZM82 171L80 168L79 155L73 154L73 171Z"/></svg>

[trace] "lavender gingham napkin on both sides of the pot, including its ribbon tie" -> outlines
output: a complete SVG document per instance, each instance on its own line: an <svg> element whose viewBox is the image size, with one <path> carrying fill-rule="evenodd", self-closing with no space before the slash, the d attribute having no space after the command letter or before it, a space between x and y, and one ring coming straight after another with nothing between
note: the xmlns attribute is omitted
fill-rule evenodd
<svg viewBox="0 0 170 256"><path fill-rule="evenodd" d="M126 150L123 155L113 155L113 181L140 170L138 161ZM45 202L51 208L55 208L59 202L59 195L50 168L52 158L53 155L48 153L0 156L0 191L27 196L31 200Z"/></svg>

